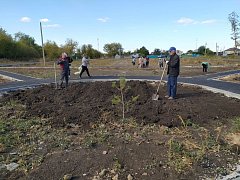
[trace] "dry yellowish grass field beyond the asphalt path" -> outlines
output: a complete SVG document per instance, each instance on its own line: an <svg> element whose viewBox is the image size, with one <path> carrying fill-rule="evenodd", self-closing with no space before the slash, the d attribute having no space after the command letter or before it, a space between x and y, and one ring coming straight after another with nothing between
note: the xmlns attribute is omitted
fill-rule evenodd
<svg viewBox="0 0 240 180"><path fill-rule="evenodd" d="M200 58L182 58L181 59L181 76L196 76L203 75L201 62L208 61L211 63L208 73L216 73L227 70L240 69L240 59L227 59L222 57L200 57ZM7 64L11 64L12 61L4 61ZM22 63L22 62L14 62ZM72 77L74 72L78 71L78 67L81 65L81 60L74 60L72 63ZM218 67L214 67L218 65ZM220 66L220 67L219 67ZM54 61L47 61L46 67L43 67L42 60L36 65L21 66L18 68L0 68L9 72L20 73L36 78L53 78L54 77ZM112 75L112 76L159 76L162 73L162 69L159 69L158 60L151 59L149 68L138 68L137 64L132 65L131 59L92 59L90 60L90 73L93 76L98 75ZM57 66L59 71L59 67ZM57 72L58 73L58 72Z"/></svg>

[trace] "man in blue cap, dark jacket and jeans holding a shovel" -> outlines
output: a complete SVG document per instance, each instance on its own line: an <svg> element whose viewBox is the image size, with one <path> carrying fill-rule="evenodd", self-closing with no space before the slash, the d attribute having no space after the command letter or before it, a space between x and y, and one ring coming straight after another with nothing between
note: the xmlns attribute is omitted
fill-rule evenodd
<svg viewBox="0 0 240 180"><path fill-rule="evenodd" d="M180 58L176 54L176 48L171 47L169 49L170 59L166 61L168 65L168 82L167 82L167 89L168 95L165 96L168 99L175 99L177 93L177 77L180 72Z"/></svg>

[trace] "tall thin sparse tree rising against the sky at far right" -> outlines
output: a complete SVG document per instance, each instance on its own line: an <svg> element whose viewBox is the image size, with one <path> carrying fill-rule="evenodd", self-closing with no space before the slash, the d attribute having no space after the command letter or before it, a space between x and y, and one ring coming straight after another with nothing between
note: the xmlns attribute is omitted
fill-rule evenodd
<svg viewBox="0 0 240 180"><path fill-rule="evenodd" d="M240 29L240 23L239 23L239 16L236 12L232 12L231 14L228 15L228 20L231 23L231 28L232 28L232 37L231 39L234 40L234 46L235 46L235 54L237 52L237 46L238 42L237 40L239 39L239 29Z"/></svg>

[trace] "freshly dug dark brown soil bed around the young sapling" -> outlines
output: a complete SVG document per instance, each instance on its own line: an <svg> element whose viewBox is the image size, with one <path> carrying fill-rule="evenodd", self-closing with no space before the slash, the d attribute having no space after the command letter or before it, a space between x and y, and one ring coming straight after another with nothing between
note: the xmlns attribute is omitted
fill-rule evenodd
<svg viewBox="0 0 240 180"><path fill-rule="evenodd" d="M129 106L126 116L139 123L159 123L174 127L181 124L179 118L197 124L209 124L239 115L239 100L223 97L195 87L178 87L178 98L167 100L166 87L160 88L160 99L152 100L156 86L148 82L130 81L125 99L139 96ZM27 107L26 116L50 118L53 126L77 124L84 128L102 118L104 113L112 119L121 118L121 105L113 105L114 95L119 91L111 82L76 83L67 89L56 90L53 86L42 86L26 91L16 91L2 98L18 100Z"/></svg>

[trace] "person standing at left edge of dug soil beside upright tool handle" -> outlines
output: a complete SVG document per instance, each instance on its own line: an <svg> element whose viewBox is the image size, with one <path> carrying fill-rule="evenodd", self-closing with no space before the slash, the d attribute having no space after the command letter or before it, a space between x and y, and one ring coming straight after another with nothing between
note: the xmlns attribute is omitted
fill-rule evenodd
<svg viewBox="0 0 240 180"><path fill-rule="evenodd" d="M69 78L69 61L67 59L67 54L62 53L62 56L58 59L57 64L60 65L60 87L63 88L63 81L65 79L66 87L68 86Z"/></svg>

